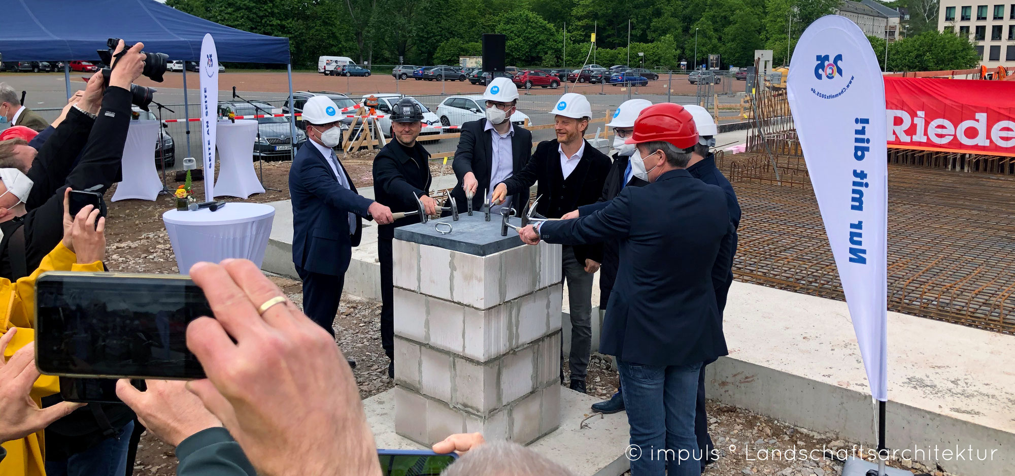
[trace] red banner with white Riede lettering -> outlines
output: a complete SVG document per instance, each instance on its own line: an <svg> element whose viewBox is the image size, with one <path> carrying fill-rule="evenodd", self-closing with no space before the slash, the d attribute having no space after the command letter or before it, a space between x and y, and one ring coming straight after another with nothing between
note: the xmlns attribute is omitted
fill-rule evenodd
<svg viewBox="0 0 1015 476"><path fill-rule="evenodd" d="M884 80L889 147L1015 156L1015 81Z"/></svg>

